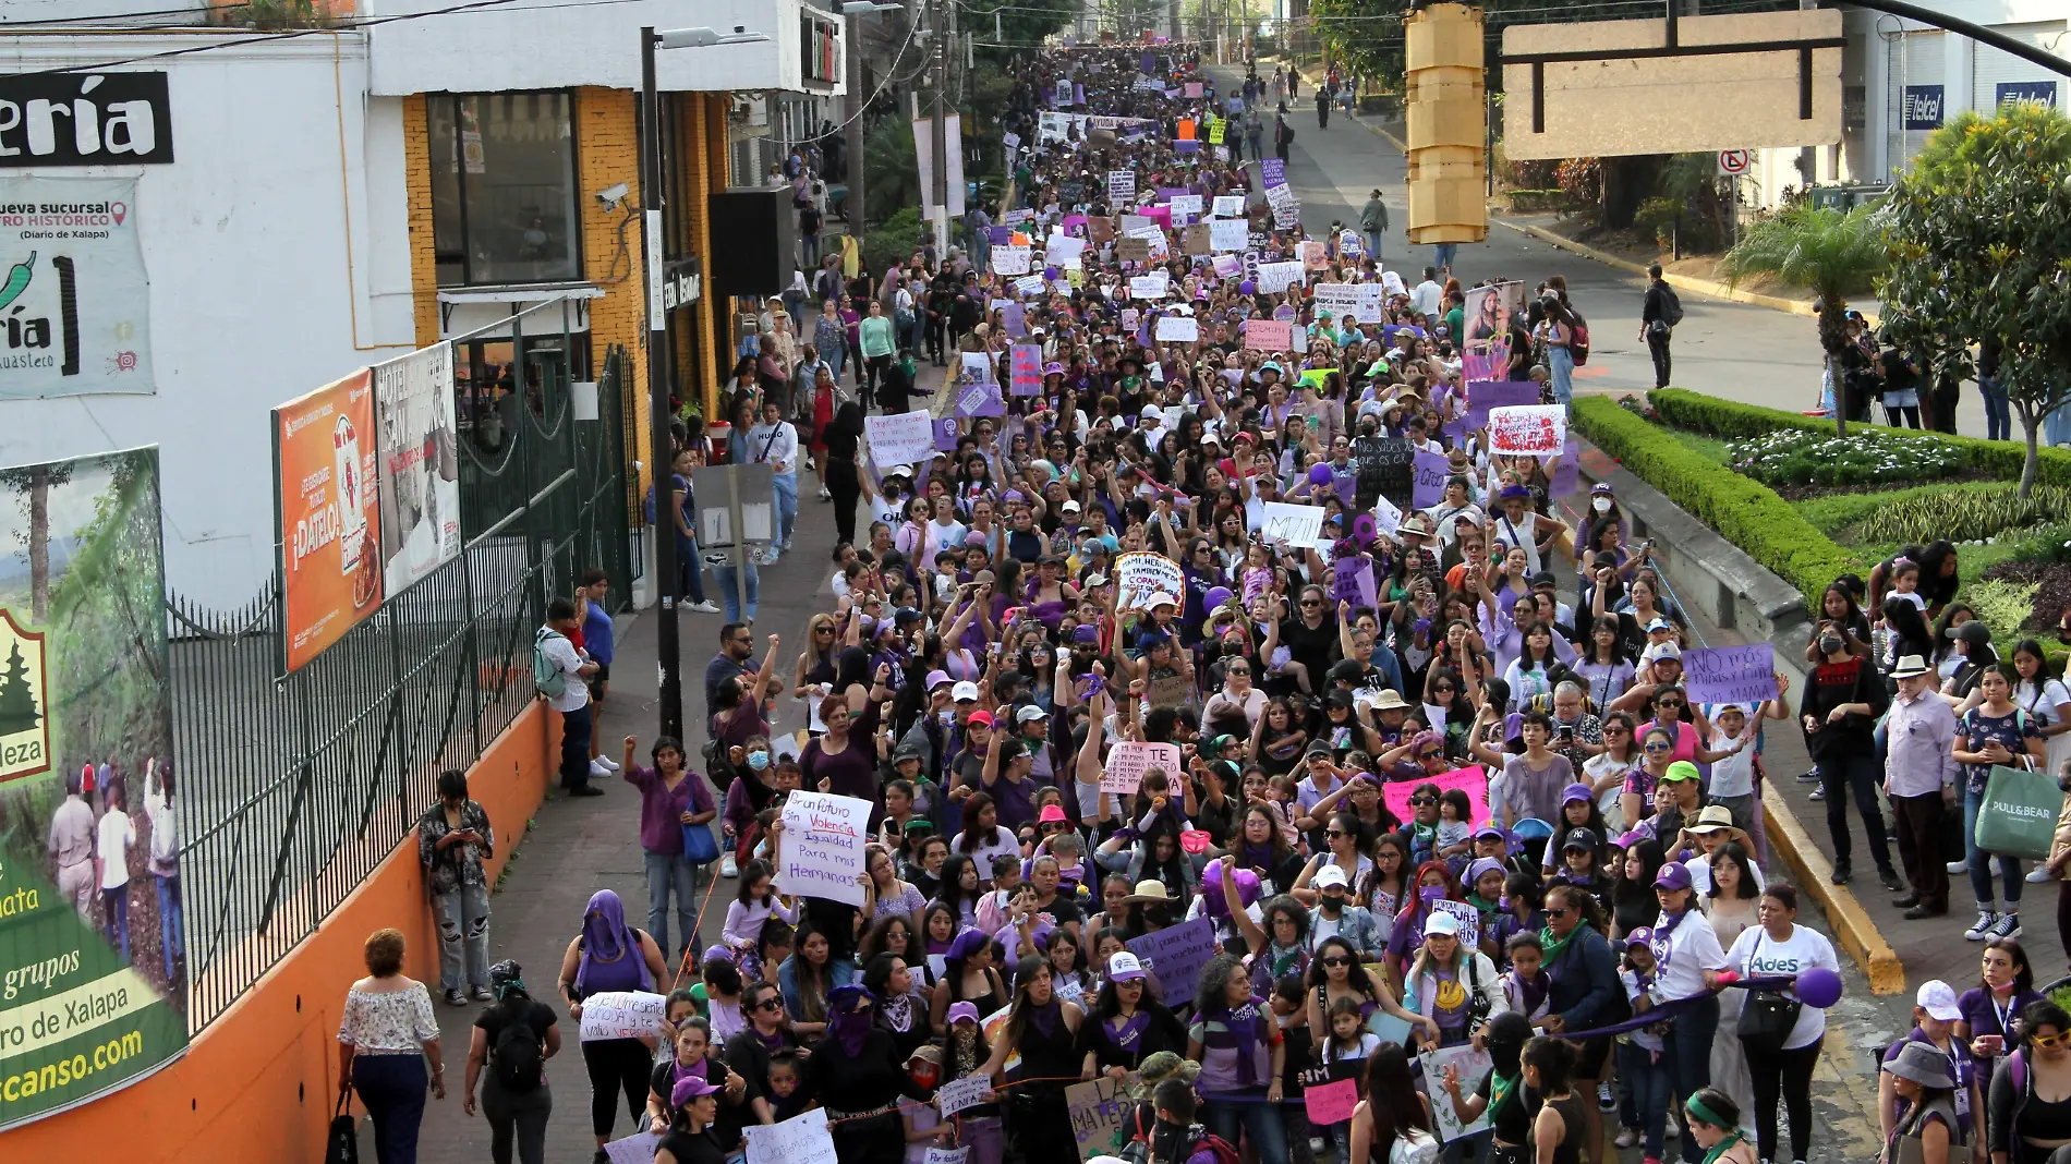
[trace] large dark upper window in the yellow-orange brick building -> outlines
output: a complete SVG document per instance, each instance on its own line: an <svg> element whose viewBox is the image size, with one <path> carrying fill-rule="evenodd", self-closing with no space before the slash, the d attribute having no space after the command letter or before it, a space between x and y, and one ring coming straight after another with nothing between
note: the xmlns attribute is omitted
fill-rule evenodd
<svg viewBox="0 0 2071 1164"><path fill-rule="evenodd" d="M439 286L582 278L570 93L433 93Z"/></svg>

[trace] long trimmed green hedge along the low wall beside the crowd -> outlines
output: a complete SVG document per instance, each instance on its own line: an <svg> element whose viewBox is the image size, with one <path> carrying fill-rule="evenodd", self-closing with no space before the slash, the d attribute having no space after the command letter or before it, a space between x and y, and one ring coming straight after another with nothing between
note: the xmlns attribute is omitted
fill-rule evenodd
<svg viewBox="0 0 2071 1164"><path fill-rule="evenodd" d="M1725 404L1690 391L1657 391L1653 396L1663 418L1669 416L1669 408L1661 404L1663 396L1675 396L1678 400L1671 404L1680 408L1684 406L1684 400L1688 400L1690 406L1684 412L1686 416L1696 412L1700 406ZM1731 404L1729 408L1764 412L1769 416L1791 416L1789 412L1775 412L1771 408L1750 410L1742 404ZM1835 545L1827 534L1818 532L1818 528L1806 522L1804 516L1800 516L1789 501L1779 497L1775 489L1707 460L1678 441L1671 433L1620 408L1615 400L1605 396L1578 396L1570 416L1576 431L1588 437L1588 441L1607 456L1615 458L1640 481L1659 489L1669 501L1682 505L1690 516L1717 530L1725 541L1738 545L1754 561L1773 570L1791 586L1798 586L1798 590L1806 594L1808 609L1818 607L1820 592L1835 578L1843 574L1868 576L1866 561ZM1796 416L1791 418L1796 420ZM1756 420L1758 418L1738 418L1735 423L1754 425ZM1678 420L1678 425L1692 429L1702 427L1688 418ZM1775 431L1777 427L1781 425L1771 423L1771 429L1760 431ZM1752 437L1756 431L1748 429L1735 435Z"/></svg>

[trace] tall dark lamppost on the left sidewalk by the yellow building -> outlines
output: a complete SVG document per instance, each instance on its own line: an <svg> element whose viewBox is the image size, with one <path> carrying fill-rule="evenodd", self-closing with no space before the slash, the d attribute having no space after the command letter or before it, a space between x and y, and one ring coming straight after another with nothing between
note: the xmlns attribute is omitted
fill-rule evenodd
<svg viewBox="0 0 2071 1164"><path fill-rule="evenodd" d="M648 292L648 478L654 483L654 592L661 596L654 630L654 667L661 671L661 735L683 737L683 648L675 625L675 526L669 518L669 491L661 478L669 476L673 447L669 443L669 315L661 307L663 284L663 133L661 97L654 93L654 46L659 37L652 27L640 29L640 207L646 211L642 232L642 261L646 263Z"/></svg>

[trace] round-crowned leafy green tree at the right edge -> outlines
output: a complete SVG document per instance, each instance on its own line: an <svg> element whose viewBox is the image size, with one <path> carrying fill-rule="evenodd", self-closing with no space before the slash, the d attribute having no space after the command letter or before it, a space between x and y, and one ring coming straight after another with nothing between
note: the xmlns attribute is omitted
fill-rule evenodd
<svg viewBox="0 0 2071 1164"><path fill-rule="evenodd" d="M1893 188L1885 240L1889 342L1936 352L1945 377L1970 373L1974 344L1999 344L2028 497L2036 431L2071 400L2071 118L2032 101L1957 114Z"/></svg>

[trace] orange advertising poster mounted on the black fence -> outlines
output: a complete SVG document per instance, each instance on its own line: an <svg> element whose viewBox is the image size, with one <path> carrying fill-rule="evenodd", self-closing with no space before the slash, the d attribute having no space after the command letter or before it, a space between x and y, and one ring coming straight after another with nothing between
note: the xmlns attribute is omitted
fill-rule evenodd
<svg viewBox="0 0 2071 1164"><path fill-rule="evenodd" d="M288 671L381 607L371 381L360 369L273 410Z"/></svg>

